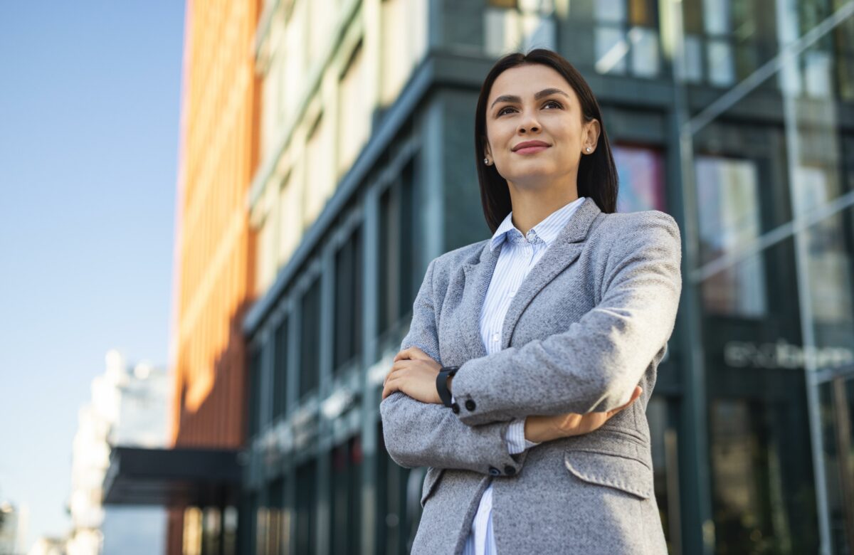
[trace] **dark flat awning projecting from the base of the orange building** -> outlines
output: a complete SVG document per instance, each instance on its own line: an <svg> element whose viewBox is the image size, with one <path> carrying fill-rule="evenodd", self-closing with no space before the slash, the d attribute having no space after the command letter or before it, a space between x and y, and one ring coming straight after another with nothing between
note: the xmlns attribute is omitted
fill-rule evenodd
<svg viewBox="0 0 854 555"><path fill-rule="evenodd" d="M104 505L235 505L237 449L113 447Z"/></svg>

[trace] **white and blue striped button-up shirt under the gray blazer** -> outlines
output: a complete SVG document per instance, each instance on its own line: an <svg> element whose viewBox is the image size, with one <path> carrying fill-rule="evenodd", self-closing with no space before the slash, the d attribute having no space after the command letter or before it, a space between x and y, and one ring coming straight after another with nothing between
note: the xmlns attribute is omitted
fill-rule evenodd
<svg viewBox="0 0 854 555"><path fill-rule="evenodd" d="M528 231L526 236L512 223L513 213L507 214L489 243L490 250L506 243L489 282L480 319L481 338L487 354L501 350L501 328L513 297L524 278L545 254L549 245L570 221L572 214L584 202L580 197L559 208ZM511 454L522 453L537 445L525 440L525 420L517 418L510 424L506 435L507 449ZM463 555L495 555L495 538L492 532L492 483L483 492L477 514L471 523L471 534L465 541Z"/></svg>

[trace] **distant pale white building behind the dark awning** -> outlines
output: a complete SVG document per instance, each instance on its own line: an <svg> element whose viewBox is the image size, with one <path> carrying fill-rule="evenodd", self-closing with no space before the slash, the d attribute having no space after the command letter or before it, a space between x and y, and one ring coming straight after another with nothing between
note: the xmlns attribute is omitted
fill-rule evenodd
<svg viewBox="0 0 854 555"><path fill-rule="evenodd" d="M103 487L114 446L165 447L167 372L147 363L133 367L117 351L92 380L91 402L79 411L72 452L72 531L68 555L160 552L166 541L161 507L106 507ZM107 480L109 483L109 480Z"/></svg>

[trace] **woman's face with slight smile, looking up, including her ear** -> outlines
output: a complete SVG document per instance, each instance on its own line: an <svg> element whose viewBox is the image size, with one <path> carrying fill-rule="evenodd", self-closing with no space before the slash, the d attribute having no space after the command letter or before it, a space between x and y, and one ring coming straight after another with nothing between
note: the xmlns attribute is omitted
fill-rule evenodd
<svg viewBox="0 0 854 555"><path fill-rule="evenodd" d="M575 185L578 163L593 154L599 129L598 120L584 122L576 92L560 73L541 64L512 67L489 91L484 156L512 184L571 178Z"/></svg>

